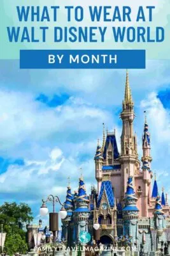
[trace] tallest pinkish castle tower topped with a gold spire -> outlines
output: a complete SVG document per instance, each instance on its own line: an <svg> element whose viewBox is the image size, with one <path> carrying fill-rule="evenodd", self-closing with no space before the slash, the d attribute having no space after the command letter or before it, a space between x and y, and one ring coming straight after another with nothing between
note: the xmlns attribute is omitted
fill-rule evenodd
<svg viewBox="0 0 170 256"><path fill-rule="evenodd" d="M121 135L121 172L122 172L122 193L124 198L127 179L134 177L136 168L139 168L136 135L133 132L134 102L132 101L131 88L129 85L129 74L126 74L125 97L122 104L122 135Z"/></svg>

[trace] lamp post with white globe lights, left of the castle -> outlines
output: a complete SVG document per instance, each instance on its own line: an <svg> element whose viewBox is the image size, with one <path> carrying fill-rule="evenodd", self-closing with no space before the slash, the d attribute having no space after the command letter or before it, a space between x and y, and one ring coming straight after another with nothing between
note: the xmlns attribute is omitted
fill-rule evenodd
<svg viewBox="0 0 170 256"><path fill-rule="evenodd" d="M53 243L55 242L55 232L59 231L59 217L65 219L67 216L67 211L64 208L64 205L60 202L59 196L49 195L46 200L42 199L43 204L40 207L40 215L45 216L48 214L48 208L46 207L47 202L51 202L53 205L53 212L49 213L50 216L50 231L53 232ZM55 203L62 205L59 213L55 212Z"/></svg>

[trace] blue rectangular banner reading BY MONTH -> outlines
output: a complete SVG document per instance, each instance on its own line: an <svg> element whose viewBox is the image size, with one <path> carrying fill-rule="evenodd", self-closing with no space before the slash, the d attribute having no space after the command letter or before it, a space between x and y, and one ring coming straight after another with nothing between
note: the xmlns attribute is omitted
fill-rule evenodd
<svg viewBox="0 0 170 256"><path fill-rule="evenodd" d="M145 50L20 50L20 68L145 68Z"/></svg>

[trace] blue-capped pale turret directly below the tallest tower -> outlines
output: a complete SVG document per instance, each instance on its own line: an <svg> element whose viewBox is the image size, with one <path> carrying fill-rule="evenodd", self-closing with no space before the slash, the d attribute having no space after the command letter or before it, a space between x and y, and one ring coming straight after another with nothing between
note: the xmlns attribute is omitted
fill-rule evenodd
<svg viewBox="0 0 170 256"><path fill-rule="evenodd" d="M138 198L135 196L134 187L132 184L132 176L127 181L127 191L124 197L125 207L123 208L124 218L124 236L132 237L132 244L136 243L138 237L138 212L136 207Z"/></svg>

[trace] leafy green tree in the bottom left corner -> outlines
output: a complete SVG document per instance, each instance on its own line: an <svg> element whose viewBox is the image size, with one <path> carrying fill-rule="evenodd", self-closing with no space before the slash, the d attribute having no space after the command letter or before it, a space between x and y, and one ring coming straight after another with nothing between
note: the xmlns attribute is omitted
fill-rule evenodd
<svg viewBox="0 0 170 256"><path fill-rule="evenodd" d="M0 207L0 224L3 224L3 231L6 232L5 250L9 255L13 253L25 253L27 243L24 227L32 221L32 212L29 205L15 202L4 202Z"/></svg>

